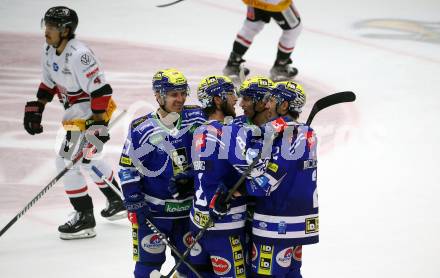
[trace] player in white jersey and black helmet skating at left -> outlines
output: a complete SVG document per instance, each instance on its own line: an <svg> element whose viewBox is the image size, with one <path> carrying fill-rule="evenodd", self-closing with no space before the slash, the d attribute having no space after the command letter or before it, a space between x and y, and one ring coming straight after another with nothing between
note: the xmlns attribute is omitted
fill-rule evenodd
<svg viewBox="0 0 440 278"><path fill-rule="evenodd" d="M116 108L111 98L112 88L94 53L75 39L77 25L78 16L70 8L57 6L45 13L42 19L46 38L41 61L42 81L37 100L26 103L23 123L31 135L43 132L41 120L45 105L56 96L65 108L62 123L66 130L56 159L57 168L59 171L64 169L67 161L82 153L83 147L89 149L89 155L84 156L81 163L77 163L63 177L64 188L75 213L72 219L58 227L62 239L96 235L93 203L80 168L90 172L94 165L117 186L112 169L104 161L96 159L95 154L110 139L107 125ZM88 142L85 137L91 137L86 133L97 140ZM109 220L123 218L125 208L121 198L96 175L91 174L90 177L108 201L101 216Z"/></svg>

